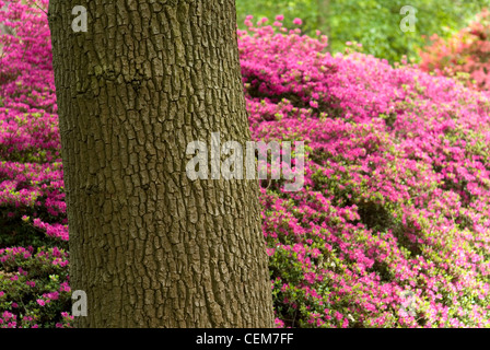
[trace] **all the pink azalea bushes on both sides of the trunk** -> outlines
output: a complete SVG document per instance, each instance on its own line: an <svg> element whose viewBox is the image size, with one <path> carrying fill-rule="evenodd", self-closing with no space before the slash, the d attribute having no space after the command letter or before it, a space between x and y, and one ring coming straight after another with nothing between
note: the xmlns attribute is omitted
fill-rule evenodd
<svg viewBox="0 0 490 350"><path fill-rule="evenodd" d="M33 3L0 12L15 28L1 38L0 327L69 327L49 32ZM262 180L276 325L490 326L489 95L359 52L331 57L325 36L281 16L246 21L253 138L306 150L301 190Z"/></svg>

